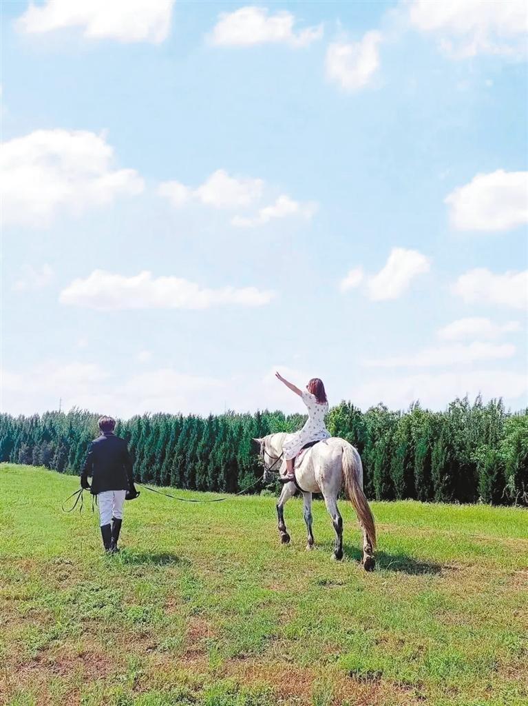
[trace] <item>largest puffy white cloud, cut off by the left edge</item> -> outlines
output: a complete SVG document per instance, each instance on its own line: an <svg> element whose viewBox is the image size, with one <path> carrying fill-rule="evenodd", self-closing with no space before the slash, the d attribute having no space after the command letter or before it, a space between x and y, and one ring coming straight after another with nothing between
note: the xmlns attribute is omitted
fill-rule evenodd
<svg viewBox="0 0 528 706"><path fill-rule="evenodd" d="M4 225L49 225L59 209L78 214L134 196L143 180L113 167L113 148L85 131L37 130L0 151Z"/></svg>

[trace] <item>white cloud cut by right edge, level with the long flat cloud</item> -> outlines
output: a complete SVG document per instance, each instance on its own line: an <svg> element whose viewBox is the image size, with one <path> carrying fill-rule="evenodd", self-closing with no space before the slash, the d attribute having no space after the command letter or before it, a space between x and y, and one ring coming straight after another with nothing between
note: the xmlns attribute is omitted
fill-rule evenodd
<svg viewBox="0 0 528 706"><path fill-rule="evenodd" d="M527 309L528 270L496 275L486 268L475 268L460 275L451 290L466 304L504 304Z"/></svg>

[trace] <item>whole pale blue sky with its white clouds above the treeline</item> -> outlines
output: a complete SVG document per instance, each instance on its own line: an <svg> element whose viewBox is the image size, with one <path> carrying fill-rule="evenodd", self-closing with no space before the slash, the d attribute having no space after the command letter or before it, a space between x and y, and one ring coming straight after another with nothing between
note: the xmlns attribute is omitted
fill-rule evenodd
<svg viewBox="0 0 528 706"><path fill-rule="evenodd" d="M527 405L522 1L112 8L2 6L4 411Z"/></svg>

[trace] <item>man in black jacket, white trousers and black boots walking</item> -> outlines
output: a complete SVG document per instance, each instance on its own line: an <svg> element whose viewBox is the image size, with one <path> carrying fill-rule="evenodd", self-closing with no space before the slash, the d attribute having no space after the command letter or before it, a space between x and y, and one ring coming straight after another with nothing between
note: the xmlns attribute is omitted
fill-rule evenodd
<svg viewBox="0 0 528 706"><path fill-rule="evenodd" d="M99 419L101 436L90 444L80 476L82 488L97 496L104 549L109 554L118 551L125 499L133 500L140 494L134 486L133 462L126 441L113 433L115 427L112 417ZM91 487L88 476L92 477Z"/></svg>

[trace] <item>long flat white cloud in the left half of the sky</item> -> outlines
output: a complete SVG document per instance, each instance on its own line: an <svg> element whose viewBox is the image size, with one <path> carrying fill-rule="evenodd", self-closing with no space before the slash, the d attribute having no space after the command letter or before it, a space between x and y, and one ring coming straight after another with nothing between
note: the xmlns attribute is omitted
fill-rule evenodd
<svg viewBox="0 0 528 706"><path fill-rule="evenodd" d="M133 277L94 270L85 280L73 280L60 296L61 304L90 309L207 309L210 306L269 304L274 292L257 287L208 289L180 277Z"/></svg>

